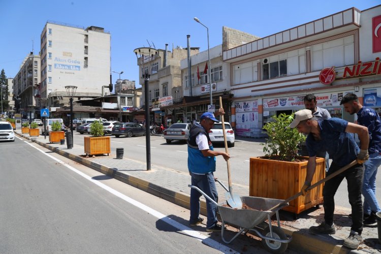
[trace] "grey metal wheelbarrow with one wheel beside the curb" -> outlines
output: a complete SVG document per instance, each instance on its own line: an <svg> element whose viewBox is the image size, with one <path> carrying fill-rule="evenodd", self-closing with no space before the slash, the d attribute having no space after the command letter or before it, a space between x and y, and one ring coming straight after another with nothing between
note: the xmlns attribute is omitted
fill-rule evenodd
<svg viewBox="0 0 381 254"><path fill-rule="evenodd" d="M217 180L226 190L227 187ZM229 207L228 202L217 204L209 196L207 196L200 188L188 185L191 188L198 190L206 199L217 205L218 212L222 221L221 238L225 243L231 243L240 234L248 233L250 231L254 232L258 237L262 238L262 244L264 247L273 253L282 253L287 247L288 243L291 242L292 236L286 235L280 228L279 213L278 211L288 203L284 203L284 200L279 199L269 199L260 197L240 197L243 204L246 204L251 209L234 209ZM274 210L269 210L277 204L282 204ZM254 209L254 210L252 210ZM271 225L271 216L276 214L276 220L278 226ZM268 227L264 229L259 228L259 224L263 223L268 219ZM239 232L234 235L230 240L226 240L224 237L224 226L229 224L239 228Z"/></svg>

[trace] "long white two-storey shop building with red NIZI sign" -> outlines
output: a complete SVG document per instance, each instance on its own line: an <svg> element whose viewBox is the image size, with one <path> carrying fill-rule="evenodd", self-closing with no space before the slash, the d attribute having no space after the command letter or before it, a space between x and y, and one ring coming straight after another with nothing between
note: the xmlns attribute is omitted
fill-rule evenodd
<svg viewBox="0 0 381 254"><path fill-rule="evenodd" d="M351 122L355 116L340 106L348 92L381 112L380 13L381 6L351 8L224 49L236 133L257 137L271 116L303 109L307 93L332 117Z"/></svg>

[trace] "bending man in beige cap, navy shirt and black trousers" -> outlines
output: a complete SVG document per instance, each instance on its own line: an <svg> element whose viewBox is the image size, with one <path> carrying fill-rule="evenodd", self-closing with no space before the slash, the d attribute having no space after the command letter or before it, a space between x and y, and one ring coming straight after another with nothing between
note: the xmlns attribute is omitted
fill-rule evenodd
<svg viewBox="0 0 381 254"><path fill-rule="evenodd" d="M307 136L306 145L309 154L307 163L307 175L301 189L303 195L311 185L313 174L316 169L316 152L328 151L332 157L332 164L327 176L340 168L357 160L357 164L334 178L328 180L323 187L324 198L324 222L319 226L312 226L309 230L315 234L335 234L336 228L333 223L335 211L335 194L341 181L346 178L348 199L352 206L352 227L348 238L343 246L357 249L362 241L363 230L363 204L361 188L363 183L363 163L368 160L369 136L366 127L347 122L340 118L317 120L311 110L303 109L295 113L295 119L290 128L297 128L299 133ZM350 133L356 133L360 139L360 148Z"/></svg>

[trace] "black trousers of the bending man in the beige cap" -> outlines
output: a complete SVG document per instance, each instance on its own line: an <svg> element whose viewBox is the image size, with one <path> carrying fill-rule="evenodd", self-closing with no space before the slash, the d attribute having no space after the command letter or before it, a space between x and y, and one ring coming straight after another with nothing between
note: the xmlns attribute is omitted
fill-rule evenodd
<svg viewBox="0 0 381 254"><path fill-rule="evenodd" d="M339 170L341 167L332 162L327 172L327 176ZM332 225L335 211L335 194L342 180L346 178L348 188L348 199L352 206L352 227L351 230L361 235L363 230L363 203L361 199L361 187L363 184L363 165L357 164L349 168L334 178L326 181L323 188L324 197L324 219L326 224Z"/></svg>

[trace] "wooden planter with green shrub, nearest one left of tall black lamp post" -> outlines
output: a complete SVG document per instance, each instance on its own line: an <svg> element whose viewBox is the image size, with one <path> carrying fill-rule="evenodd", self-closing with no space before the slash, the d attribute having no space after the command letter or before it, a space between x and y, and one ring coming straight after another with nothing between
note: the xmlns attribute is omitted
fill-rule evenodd
<svg viewBox="0 0 381 254"><path fill-rule="evenodd" d="M103 124L101 121L94 121L90 126L91 137L84 137L85 153L88 155L104 154L111 152L110 137L105 137L103 132Z"/></svg>

